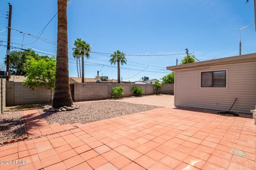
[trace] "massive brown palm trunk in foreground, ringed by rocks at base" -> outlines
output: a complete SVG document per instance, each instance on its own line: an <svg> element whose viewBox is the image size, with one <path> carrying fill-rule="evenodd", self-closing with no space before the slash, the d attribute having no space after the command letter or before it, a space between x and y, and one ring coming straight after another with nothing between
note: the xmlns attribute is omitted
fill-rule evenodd
<svg viewBox="0 0 256 170"><path fill-rule="evenodd" d="M58 0L58 35L55 87L52 105L54 108L73 104L68 74L67 0Z"/></svg>

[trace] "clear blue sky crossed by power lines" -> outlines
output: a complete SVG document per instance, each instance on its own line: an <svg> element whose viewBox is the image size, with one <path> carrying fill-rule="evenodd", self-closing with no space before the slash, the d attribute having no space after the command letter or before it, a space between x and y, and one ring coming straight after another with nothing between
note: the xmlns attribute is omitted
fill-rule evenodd
<svg viewBox="0 0 256 170"><path fill-rule="evenodd" d="M0 0L1 14L8 10L6 2L7 0ZM10 0L9 2L13 5L12 28L33 35L38 35L57 13L57 0ZM73 45L76 38L82 38L91 44L94 52L105 53L113 53L119 49L126 54L169 54L184 53L185 48L188 48L199 60L204 61L238 55L238 29L252 22L254 22L252 0L247 4L245 0L72 0L68 4L68 42L69 45ZM0 18L0 31L6 26L7 20ZM255 33L254 25L242 31L243 54L255 52ZM11 41L21 44L22 36L21 33L12 31ZM6 41L6 37L7 30L0 33L1 40ZM57 17L46 27L41 37L57 40ZM23 44L34 40L25 36ZM13 46L21 45L13 44ZM51 54L55 54L57 48L41 40L27 46ZM27 46L23 48L28 48ZM73 58L71 49L69 53L69 57ZM3 62L5 54L6 48L0 47L0 62ZM182 55L127 56L127 65L123 67L137 70L121 69L121 77L131 81L138 80L144 75L150 79L160 79L167 74L165 73L167 71L164 71L166 66L176 64L177 57L179 62L183 58ZM91 58L85 61L110 65L108 60L106 56L91 54ZM70 77L77 77L76 64L74 64L76 61L69 62ZM91 65L85 65L85 77L93 78L97 70L101 70L103 75L109 78L117 77L116 68L86 64Z"/></svg>

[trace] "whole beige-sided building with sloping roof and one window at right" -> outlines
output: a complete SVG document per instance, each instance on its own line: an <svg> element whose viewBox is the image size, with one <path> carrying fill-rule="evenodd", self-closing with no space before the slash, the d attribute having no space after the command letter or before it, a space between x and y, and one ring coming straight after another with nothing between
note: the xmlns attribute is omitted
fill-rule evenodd
<svg viewBox="0 0 256 170"><path fill-rule="evenodd" d="M174 105L250 113L256 105L256 53L167 67Z"/></svg>

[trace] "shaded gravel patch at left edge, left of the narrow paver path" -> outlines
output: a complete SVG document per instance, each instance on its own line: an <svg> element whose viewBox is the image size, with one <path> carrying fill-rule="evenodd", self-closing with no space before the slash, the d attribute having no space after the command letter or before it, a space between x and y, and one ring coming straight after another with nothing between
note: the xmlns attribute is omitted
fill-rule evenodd
<svg viewBox="0 0 256 170"><path fill-rule="evenodd" d="M0 114L0 142L25 136L25 123L21 111Z"/></svg>

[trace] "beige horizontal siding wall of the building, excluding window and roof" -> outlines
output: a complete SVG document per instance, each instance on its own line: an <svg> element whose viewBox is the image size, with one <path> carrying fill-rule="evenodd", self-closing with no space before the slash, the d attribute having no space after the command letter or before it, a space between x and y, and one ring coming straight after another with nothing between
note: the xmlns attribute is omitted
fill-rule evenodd
<svg viewBox="0 0 256 170"><path fill-rule="evenodd" d="M201 72L227 70L227 87L201 88ZM175 69L176 106L250 113L256 105L256 61L236 64Z"/></svg>

